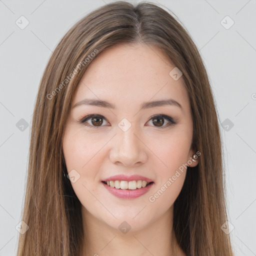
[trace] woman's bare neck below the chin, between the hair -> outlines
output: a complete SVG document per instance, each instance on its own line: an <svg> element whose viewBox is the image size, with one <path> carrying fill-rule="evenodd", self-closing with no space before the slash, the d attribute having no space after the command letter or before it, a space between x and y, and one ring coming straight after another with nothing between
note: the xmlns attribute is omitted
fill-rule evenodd
<svg viewBox="0 0 256 256"><path fill-rule="evenodd" d="M185 256L172 229L171 207L160 219L151 220L143 228L122 233L91 215L82 206L84 243L82 256L157 255ZM120 223L122 220L120 220Z"/></svg>

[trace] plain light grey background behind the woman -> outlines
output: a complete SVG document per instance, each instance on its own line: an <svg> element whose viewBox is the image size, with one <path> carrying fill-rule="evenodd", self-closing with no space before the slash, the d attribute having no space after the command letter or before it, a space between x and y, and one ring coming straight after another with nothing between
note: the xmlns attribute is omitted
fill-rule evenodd
<svg viewBox="0 0 256 256"><path fill-rule="evenodd" d="M0 0L0 256L16 253L31 115L47 60L78 19L108 2ZM233 123L228 131L221 127L230 235L235 255L256 255L256 0L158 3L189 31L209 73L220 122ZM29 21L24 29L15 24L21 15ZM234 21L229 29L221 24L226 15ZM16 126L21 118L28 123L23 131Z"/></svg>

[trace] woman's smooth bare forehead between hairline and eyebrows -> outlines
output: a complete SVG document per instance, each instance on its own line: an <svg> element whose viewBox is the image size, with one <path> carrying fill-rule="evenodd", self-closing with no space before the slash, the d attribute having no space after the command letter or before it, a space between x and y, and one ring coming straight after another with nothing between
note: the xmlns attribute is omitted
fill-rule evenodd
<svg viewBox="0 0 256 256"><path fill-rule="evenodd" d="M174 80L175 65L157 46L118 44L99 53L84 72L74 103L84 98L137 105L143 101L173 98L189 108L182 76Z"/></svg>

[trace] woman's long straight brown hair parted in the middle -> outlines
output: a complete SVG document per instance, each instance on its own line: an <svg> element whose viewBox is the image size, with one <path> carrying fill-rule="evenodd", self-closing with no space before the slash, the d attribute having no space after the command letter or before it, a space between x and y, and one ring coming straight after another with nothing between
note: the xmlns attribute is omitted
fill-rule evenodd
<svg viewBox="0 0 256 256"><path fill-rule="evenodd" d="M73 25L52 53L34 107L18 256L80 255L81 203L62 152L62 134L75 88L93 57L117 43L156 45L182 72L193 118L195 167L174 202L173 230L186 255L231 256L218 116L200 54L181 22L151 2L117 1ZM72 75L71 75L72 74ZM48 253L48 254L47 254Z"/></svg>

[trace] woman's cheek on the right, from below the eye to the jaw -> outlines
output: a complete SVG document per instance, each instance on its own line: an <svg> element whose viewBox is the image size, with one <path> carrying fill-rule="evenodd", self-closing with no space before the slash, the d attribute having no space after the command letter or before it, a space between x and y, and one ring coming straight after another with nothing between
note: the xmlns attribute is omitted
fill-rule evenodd
<svg viewBox="0 0 256 256"><path fill-rule="evenodd" d="M187 129L177 129L168 136L158 136L157 141L151 140L150 148L154 148L152 151L160 161L157 160L157 183L149 201L162 210L174 203L183 186L190 143L191 134Z"/></svg>

